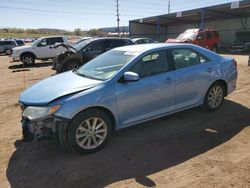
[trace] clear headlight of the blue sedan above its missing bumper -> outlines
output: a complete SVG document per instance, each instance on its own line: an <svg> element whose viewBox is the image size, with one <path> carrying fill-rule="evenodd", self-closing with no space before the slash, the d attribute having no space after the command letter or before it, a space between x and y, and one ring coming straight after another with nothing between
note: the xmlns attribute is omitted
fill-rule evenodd
<svg viewBox="0 0 250 188"><path fill-rule="evenodd" d="M49 115L54 114L61 106L49 106L49 107L35 107L29 106L24 111L22 116L30 120L40 119Z"/></svg>

